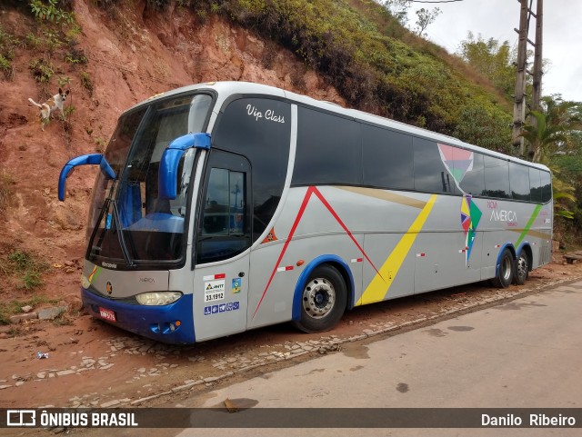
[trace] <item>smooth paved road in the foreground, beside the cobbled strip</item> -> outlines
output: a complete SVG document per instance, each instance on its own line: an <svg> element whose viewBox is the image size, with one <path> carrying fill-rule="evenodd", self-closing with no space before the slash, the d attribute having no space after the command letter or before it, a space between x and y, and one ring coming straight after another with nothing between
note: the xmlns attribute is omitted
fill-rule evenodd
<svg viewBox="0 0 582 437"><path fill-rule="evenodd" d="M209 392L205 399L193 397L181 406L224 407L229 399L243 408L236 414L256 406L557 408L555 412L563 409L567 415L567 408L582 408L581 314L582 282L560 285L375 343L346 347ZM308 409L289 410L287 415L301 428L190 429L179 435L582 435L580 428L329 430L315 428L317 414Z"/></svg>

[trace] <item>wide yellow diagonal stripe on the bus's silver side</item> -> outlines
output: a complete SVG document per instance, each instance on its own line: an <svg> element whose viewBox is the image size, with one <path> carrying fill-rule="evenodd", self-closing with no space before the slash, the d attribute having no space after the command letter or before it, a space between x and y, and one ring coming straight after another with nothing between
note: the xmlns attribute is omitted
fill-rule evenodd
<svg viewBox="0 0 582 437"><path fill-rule="evenodd" d="M376 273L374 279L369 283L364 293L362 293L362 297L356 302L357 305L361 305L363 303L373 303L373 302L380 302L383 301L390 290L390 286L396 278L396 274L400 269L402 263L406 259L406 255L410 251L412 244L415 243L416 235L420 232L422 227L424 226L426 219L428 218L428 214L433 209L433 205L437 200L437 194L433 194L426 202L425 207L422 209L420 214L416 217L414 223L410 225L408 231L402 236L400 241L396 244L396 247L390 253L382 267L380 268L380 274ZM392 272L392 274L390 274ZM390 279L383 279L383 278L390 278Z"/></svg>

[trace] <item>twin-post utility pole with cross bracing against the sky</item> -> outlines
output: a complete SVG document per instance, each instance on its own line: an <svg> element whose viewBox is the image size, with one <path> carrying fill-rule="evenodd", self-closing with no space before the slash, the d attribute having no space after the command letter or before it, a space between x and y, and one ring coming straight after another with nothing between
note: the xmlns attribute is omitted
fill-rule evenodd
<svg viewBox="0 0 582 437"><path fill-rule="evenodd" d="M517 74L516 74L516 92L513 110L513 133L512 144L518 147L518 154L526 157L526 146L524 138L519 136L523 125L526 122L526 73L533 75L532 102L530 109L537 111L539 109L539 100L542 88L542 17L543 17L543 0L537 0L536 14L531 10L534 0L517 0L521 5L519 14L519 29L515 29L519 35L517 43ZM536 42L533 43L527 38L529 31L529 19L531 16L536 18ZM534 72L527 71L527 43L534 46ZM535 124L535 117L531 117L531 124ZM537 144L529 144L527 155L530 159L536 153Z"/></svg>

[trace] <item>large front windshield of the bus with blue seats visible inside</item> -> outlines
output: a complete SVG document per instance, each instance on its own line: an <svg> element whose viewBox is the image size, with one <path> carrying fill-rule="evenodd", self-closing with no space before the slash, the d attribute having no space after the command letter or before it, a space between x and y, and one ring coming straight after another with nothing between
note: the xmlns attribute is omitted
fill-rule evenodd
<svg viewBox="0 0 582 437"><path fill-rule="evenodd" d="M158 196L159 163L172 140L203 130L211 104L208 94L180 95L122 115L105 151L117 178L99 174L95 181L87 226L89 261L119 268L182 257L196 149L179 164L175 200Z"/></svg>

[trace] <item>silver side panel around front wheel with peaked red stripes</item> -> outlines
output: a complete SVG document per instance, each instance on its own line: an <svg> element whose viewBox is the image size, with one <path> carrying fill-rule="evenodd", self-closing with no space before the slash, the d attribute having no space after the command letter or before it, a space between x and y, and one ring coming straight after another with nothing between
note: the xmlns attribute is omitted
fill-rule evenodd
<svg viewBox="0 0 582 437"><path fill-rule="evenodd" d="M247 327L291 320L299 275L319 256L335 255L350 267L356 288L354 301L359 299L364 237L355 227L361 214L343 191L326 187L291 189L282 213L270 225L273 241L251 250ZM299 261L303 263L297 265ZM352 296L347 297L351 303Z"/></svg>

